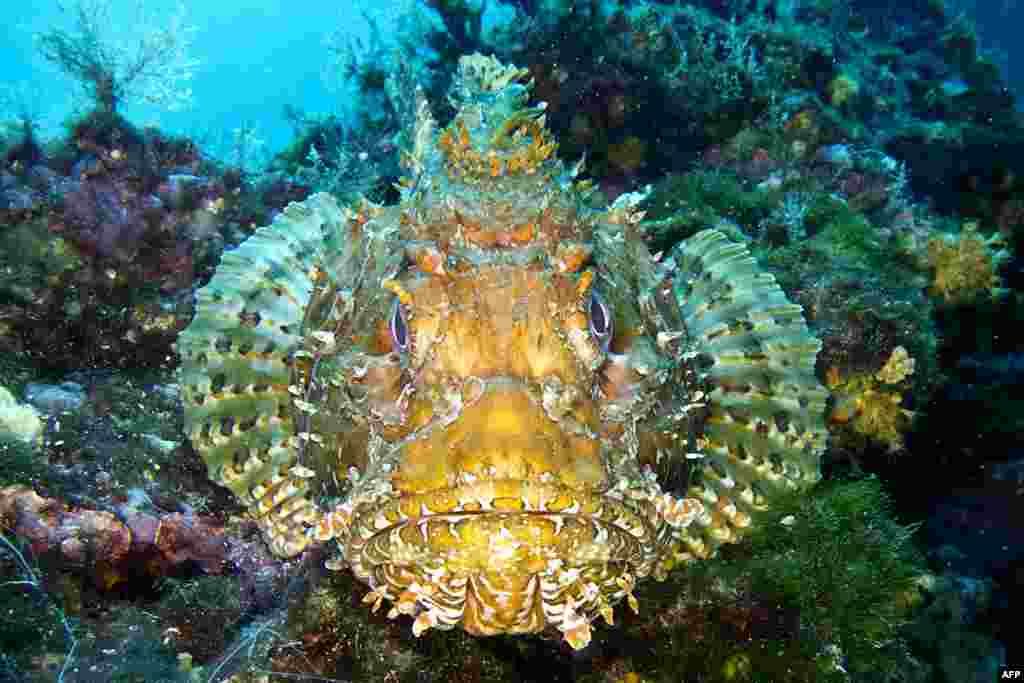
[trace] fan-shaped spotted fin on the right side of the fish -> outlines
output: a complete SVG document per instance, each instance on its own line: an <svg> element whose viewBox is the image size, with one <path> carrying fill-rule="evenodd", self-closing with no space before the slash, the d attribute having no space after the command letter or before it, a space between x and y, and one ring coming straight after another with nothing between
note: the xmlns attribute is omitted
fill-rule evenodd
<svg viewBox="0 0 1024 683"><path fill-rule="evenodd" d="M683 559L703 558L736 541L772 495L818 480L828 394L814 377L821 343L745 247L703 230L673 258L677 358L707 403L689 495L711 512L685 537Z"/></svg>

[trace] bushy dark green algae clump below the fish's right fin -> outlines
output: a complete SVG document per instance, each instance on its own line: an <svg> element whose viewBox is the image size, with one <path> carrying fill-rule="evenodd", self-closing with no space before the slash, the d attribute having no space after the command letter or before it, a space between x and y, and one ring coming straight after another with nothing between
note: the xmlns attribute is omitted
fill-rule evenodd
<svg viewBox="0 0 1024 683"><path fill-rule="evenodd" d="M745 563L751 589L796 607L820 673L835 674L818 680L845 680L834 660L872 680L905 667L899 632L924 568L911 542L915 527L893 519L882 485L828 482L761 521Z"/></svg>

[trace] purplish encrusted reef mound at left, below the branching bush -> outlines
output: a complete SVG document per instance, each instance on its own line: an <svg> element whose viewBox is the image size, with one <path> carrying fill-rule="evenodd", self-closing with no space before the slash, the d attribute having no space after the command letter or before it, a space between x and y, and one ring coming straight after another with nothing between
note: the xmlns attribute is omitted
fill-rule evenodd
<svg viewBox="0 0 1024 683"><path fill-rule="evenodd" d="M0 347L54 369L172 362L197 281L308 194L280 176L248 184L116 114L75 120L31 159L0 170Z"/></svg>

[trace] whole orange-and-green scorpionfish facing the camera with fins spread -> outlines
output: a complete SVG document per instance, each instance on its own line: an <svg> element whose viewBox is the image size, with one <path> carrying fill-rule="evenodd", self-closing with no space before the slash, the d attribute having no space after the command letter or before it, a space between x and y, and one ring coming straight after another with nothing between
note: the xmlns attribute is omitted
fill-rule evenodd
<svg viewBox="0 0 1024 683"><path fill-rule="evenodd" d="M224 254L181 334L188 435L272 551L328 544L419 636L554 628L737 541L819 478L802 308L705 229L655 258L642 194L593 208L527 72L422 93L400 201L289 205Z"/></svg>

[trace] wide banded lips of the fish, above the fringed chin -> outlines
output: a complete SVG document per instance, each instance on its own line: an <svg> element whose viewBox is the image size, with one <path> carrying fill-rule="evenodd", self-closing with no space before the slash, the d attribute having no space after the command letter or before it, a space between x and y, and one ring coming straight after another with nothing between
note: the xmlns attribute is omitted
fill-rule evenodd
<svg viewBox="0 0 1024 683"><path fill-rule="evenodd" d="M353 570L367 578L383 565L443 566L466 575L545 573L595 562L640 567L655 553L656 513L646 501L522 481L516 483L531 496L520 499L521 509L495 507L495 501L486 508L467 509L480 504L481 485L493 483L396 498L358 511L345 549ZM461 502L458 508L435 511L428 506L431 497L444 497L446 505ZM548 509L554 500L560 509Z"/></svg>

